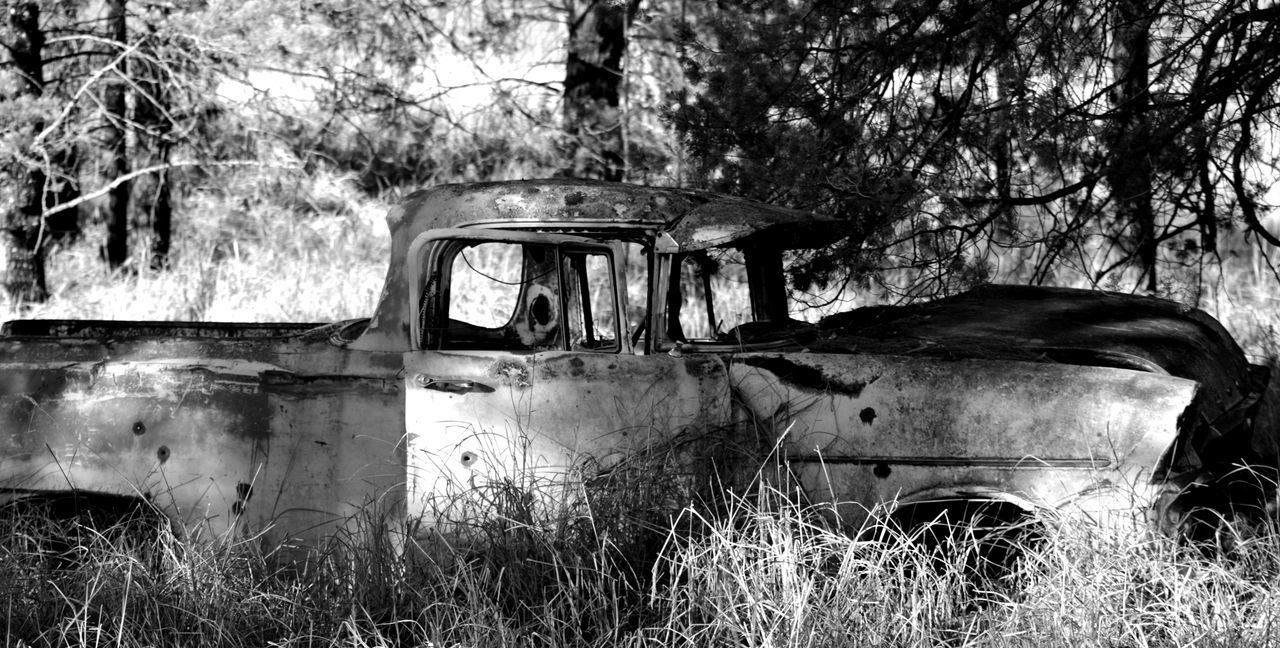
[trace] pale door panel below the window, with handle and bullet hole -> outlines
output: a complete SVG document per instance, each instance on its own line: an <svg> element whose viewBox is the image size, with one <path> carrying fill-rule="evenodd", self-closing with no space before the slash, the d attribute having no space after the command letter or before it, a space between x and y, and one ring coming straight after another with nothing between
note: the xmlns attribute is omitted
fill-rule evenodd
<svg viewBox="0 0 1280 648"><path fill-rule="evenodd" d="M422 351L404 369L408 514L438 522L474 515L457 507L490 505L494 488L553 506L584 466L675 451L730 423L724 365L710 356Z"/></svg>

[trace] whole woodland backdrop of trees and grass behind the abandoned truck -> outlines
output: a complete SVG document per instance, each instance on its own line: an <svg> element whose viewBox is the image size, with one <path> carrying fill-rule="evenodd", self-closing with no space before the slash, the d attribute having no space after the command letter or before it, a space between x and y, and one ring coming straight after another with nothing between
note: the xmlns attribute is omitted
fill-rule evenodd
<svg viewBox="0 0 1280 648"><path fill-rule="evenodd" d="M1276 6L0 5L5 319L362 316L407 192L582 177L836 214L791 280L854 305L1087 286L1280 337Z"/></svg>

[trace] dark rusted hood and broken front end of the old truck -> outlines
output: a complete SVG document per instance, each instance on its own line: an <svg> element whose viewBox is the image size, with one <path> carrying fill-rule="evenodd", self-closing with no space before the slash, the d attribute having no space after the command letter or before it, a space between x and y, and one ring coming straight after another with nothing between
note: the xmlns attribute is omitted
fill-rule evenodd
<svg viewBox="0 0 1280 648"><path fill-rule="evenodd" d="M1203 393L1197 420L1187 421L1199 430L1201 461L1277 457L1275 434L1254 434L1268 371L1252 368L1213 318L1167 300L986 286L929 304L833 315L820 330L815 351L1116 366L1187 378Z"/></svg>

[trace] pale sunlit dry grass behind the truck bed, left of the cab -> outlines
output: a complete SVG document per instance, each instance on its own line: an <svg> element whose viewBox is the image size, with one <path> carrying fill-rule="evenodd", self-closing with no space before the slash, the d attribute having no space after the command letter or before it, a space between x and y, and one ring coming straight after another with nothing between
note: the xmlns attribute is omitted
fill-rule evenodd
<svg viewBox="0 0 1280 648"><path fill-rule="evenodd" d="M0 319L78 318L204 321L330 321L367 316L381 291L390 242L388 205L351 178L244 174L195 191L175 215L172 266L150 269L145 228L109 270L101 224L50 255L46 304L0 296Z"/></svg>

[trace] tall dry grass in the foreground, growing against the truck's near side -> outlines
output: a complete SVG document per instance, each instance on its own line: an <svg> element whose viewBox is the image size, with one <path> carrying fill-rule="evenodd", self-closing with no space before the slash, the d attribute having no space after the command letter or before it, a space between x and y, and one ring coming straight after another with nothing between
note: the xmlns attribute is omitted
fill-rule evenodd
<svg viewBox="0 0 1280 648"><path fill-rule="evenodd" d="M91 535L68 557L28 524L0 543L0 639L140 648L1280 642L1275 534L1210 558L1161 537L1048 528L1010 570L978 576L963 551L940 557L906 533L850 533L822 514L756 484L714 515L689 507L652 528L663 542L641 571L628 537L609 533L622 519L581 512L490 522L507 533L488 535L484 553L353 533L293 561L251 540L187 543L163 528L146 540Z"/></svg>

